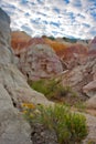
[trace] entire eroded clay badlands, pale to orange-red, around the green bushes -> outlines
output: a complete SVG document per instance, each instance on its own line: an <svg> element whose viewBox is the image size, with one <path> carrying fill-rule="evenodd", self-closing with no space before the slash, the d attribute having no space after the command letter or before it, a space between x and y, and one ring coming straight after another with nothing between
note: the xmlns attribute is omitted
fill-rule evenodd
<svg viewBox="0 0 96 144"><path fill-rule="evenodd" d="M61 78L63 85L68 84L86 97L87 109L96 111L95 48L96 38L88 43L73 43L10 33L10 18L0 9L0 144L33 144L32 130L20 112L22 103L53 104L32 90L26 80ZM89 127L84 142L87 144L88 140L96 142L96 117L85 116Z"/></svg>

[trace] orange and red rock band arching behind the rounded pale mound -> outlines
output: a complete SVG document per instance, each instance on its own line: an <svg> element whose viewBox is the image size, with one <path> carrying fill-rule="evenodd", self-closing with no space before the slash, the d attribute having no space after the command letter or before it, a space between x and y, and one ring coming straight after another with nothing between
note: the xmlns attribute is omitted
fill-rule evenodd
<svg viewBox="0 0 96 144"><path fill-rule="evenodd" d="M18 56L20 56L20 53L22 51L24 51L25 49L28 50L29 47L32 47L33 44L34 45L45 44L45 45L50 45L55 51L55 53L62 61L64 70L73 69L74 66L77 66L86 62L88 47L83 42L71 43L71 42L65 42L63 39L51 40L46 37L28 39L24 35L25 39L22 39L23 37L21 35L20 32L17 32L17 34L15 32L12 32L11 37L12 37L11 43L14 53Z"/></svg>

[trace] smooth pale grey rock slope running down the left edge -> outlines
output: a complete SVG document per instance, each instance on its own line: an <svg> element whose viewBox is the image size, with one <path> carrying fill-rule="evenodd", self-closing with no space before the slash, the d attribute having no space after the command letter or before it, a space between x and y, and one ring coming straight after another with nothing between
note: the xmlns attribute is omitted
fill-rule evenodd
<svg viewBox="0 0 96 144"><path fill-rule="evenodd" d="M20 109L23 102L50 102L29 88L13 59L10 18L0 9L0 144L32 144L31 128L17 107Z"/></svg>

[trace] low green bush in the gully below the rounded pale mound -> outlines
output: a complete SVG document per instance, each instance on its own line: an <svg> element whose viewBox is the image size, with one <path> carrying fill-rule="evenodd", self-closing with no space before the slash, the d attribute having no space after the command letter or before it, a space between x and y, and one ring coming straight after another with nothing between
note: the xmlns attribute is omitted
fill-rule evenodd
<svg viewBox="0 0 96 144"><path fill-rule="evenodd" d="M77 97L77 94L72 90L71 86L63 86L60 81L52 80L39 80L31 82L30 85L35 91L43 93L50 100L60 100L68 94L71 97Z"/></svg>

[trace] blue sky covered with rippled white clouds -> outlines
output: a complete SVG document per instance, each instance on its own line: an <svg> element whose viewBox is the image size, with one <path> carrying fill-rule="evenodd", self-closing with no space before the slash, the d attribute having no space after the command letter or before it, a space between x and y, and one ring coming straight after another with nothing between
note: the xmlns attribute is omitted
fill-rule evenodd
<svg viewBox="0 0 96 144"><path fill-rule="evenodd" d="M93 39L96 0L0 0L11 18L11 29L32 37Z"/></svg>

